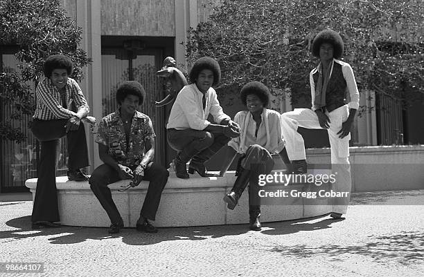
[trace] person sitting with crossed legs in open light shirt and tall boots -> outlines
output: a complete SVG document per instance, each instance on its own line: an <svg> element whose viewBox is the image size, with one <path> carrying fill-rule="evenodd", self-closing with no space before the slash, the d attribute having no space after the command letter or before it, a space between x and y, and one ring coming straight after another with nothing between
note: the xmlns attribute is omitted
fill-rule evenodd
<svg viewBox="0 0 424 277"><path fill-rule="evenodd" d="M249 227L259 231L258 176L272 171L272 153L279 153L281 159L284 159L282 155L285 142L281 135L280 114L266 108L270 102L270 90L264 84L247 83L241 90L240 98L247 106L247 111L240 111L234 117L234 122L240 125L240 137L233 138L228 143L228 155L224 158L220 175L224 175L237 153L242 154L236 171L238 177L224 201L227 202L228 209L234 209L249 182Z"/></svg>

